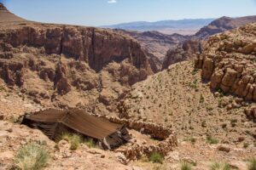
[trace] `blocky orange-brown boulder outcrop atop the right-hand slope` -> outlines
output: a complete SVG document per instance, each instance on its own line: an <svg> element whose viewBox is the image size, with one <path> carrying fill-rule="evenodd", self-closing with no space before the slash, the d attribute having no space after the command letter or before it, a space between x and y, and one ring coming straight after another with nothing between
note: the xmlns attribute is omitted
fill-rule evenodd
<svg viewBox="0 0 256 170"><path fill-rule="evenodd" d="M256 101L255 28L251 24L209 38L195 66L213 90Z"/></svg>

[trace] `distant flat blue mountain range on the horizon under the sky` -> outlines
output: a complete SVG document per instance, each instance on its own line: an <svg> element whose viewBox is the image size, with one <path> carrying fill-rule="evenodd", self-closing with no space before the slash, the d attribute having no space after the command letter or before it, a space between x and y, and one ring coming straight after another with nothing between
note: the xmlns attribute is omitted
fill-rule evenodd
<svg viewBox="0 0 256 170"><path fill-rule="evenodd" d="M166 34L180 33L184 35L195 34L201 27L207 26L215 19L184 19L184 20L160 20L156 22L130 22L103 28L124 29L130 31L160 31Z"/></svg>

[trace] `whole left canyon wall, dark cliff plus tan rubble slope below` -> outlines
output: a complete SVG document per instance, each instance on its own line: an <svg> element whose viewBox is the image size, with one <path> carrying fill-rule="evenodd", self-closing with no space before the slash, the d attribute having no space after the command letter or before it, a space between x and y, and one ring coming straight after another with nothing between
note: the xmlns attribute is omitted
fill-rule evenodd
<svg viewBox="0 0 256 170"><path fill-rule="evenodd" d="M3 10L3 18L8 17L9 11ZM130 85L153 73L140 44L131 37L24 20L1 24L0 65L3 86L38 104L86 107L106 114L115 111L114 101Z"/></svg>

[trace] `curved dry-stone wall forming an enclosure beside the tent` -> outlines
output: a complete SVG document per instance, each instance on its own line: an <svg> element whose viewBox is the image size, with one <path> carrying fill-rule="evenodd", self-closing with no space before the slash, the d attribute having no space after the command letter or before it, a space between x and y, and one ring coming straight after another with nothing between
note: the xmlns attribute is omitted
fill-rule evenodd
<svg viewBox="0 0 256 170"><path fill-rule="evenodd" d="M172 129L163 127L150 122L132 121L119 119L113 116L96 115L107 119L109 122L124 124L126 127L135 129L141 133L149 134L153 139L161 139L157 144L136 144L131 143L127 147L121 147L117 152L121 152L128 160L137 160L141 156L150 156L151 153L157 152L166 156L168 152L177 146L177 136Z"/></svg>

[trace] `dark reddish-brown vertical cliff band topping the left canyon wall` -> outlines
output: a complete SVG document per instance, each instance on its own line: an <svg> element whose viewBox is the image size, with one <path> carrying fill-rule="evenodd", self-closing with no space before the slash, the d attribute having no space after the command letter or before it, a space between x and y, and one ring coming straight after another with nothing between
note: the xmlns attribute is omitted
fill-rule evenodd
<svg viewBox="0 0 256 170"><path fill-rule="evenodd" d="M95 71L111 61L130 59L137 69L150 71L140 45L129 37L110 31L75 26L19 26L0 32L1 42L16 48L22 45L44 48L45 54L64 54L89 63Z"/></svg>

